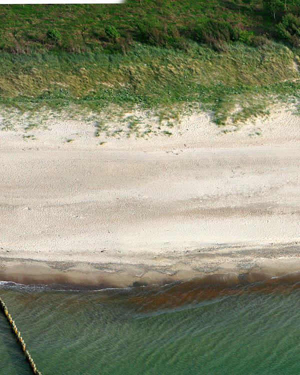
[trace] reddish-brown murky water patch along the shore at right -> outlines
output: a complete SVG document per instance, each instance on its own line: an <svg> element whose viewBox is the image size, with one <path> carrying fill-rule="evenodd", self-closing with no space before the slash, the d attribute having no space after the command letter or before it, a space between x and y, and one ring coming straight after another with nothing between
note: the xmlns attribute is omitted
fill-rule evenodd
<svg viewBox="0 0 300 375"><path fill-rule="evenodd" d="M127 293L127 301L142 311L169 309L202 300L251 292L290 293L300 287L300 272L269 277L265 273L226 273L195 277L153 288L144 287L144 293Z"/></svg>

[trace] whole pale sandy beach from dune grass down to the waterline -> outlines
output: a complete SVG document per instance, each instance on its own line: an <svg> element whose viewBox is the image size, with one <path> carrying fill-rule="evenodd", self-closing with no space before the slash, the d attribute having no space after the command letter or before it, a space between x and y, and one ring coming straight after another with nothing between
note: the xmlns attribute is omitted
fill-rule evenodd
<svg viewBox="0 0 300 375"><path fill-rule="evenodd" d="M0 132L0 279L126 286L300 270L291 111L227 134L194 114L173 136L101 136L101 146L92 124L47 127L36 140Z"/></svg>

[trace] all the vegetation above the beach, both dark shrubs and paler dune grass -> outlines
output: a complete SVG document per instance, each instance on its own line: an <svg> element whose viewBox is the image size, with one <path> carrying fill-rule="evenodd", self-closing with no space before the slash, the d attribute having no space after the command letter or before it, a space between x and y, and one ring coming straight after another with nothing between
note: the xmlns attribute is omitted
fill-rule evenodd
<svg viewBox="0 0 300 375"><path fill-rule="evenodd" d="M0 5L0 103L200 102L224 123L298 98L300 0ZM285 44L285 45L284 45Z"/></svg>

